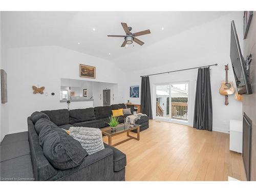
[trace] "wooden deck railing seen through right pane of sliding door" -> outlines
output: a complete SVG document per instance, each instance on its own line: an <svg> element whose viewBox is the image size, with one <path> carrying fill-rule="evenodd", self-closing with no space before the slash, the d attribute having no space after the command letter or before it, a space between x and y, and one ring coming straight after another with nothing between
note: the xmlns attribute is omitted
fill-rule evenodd
<svg viewBox="0 0 256 192"><path fill-rule="evenodd" d="M187 120L187 103L172 102L172 118Z"/></svg>

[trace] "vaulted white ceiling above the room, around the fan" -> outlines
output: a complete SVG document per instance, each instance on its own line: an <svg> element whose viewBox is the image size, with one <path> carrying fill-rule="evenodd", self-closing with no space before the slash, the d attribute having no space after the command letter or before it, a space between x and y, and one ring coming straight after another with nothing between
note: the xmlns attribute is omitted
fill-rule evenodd
<svg viewBox="0 0 256 192"><path fill-rule="evenodd" d="M159 58L168 54L169 47L170 50L182 49L182 36L173 40L172 45L165 39L228 13L230 12L3 12L2 39L8 48L60 46L111 60L127 69L138 67L137 60L139 63L143 59L146 61L147 56L153 53ZM129 47L121 48L123 38L107 37L108 34L124 35L121 22L131 26L133 33L150 29L151 34L138 37L145 44L139 46L134 42ZM193 46L196 49L200 43ZM177 58L179 56L178 54Z"/></svg>

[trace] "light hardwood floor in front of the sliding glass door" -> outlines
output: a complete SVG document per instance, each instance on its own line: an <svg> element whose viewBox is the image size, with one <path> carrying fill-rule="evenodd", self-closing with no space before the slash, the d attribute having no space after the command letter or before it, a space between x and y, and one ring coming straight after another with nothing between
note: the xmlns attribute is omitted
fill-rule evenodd
<svg viewBox="0 0 256 192"><path fill-rule="evenodd" d="M126 134L113 137L112 143L123 138ZM108 138L103 141L108 143ZM227 181L228 176L245 180L242 156L229 151L225 133L151 120L139 141L116 148L126 154L126 181Z"/></svg>

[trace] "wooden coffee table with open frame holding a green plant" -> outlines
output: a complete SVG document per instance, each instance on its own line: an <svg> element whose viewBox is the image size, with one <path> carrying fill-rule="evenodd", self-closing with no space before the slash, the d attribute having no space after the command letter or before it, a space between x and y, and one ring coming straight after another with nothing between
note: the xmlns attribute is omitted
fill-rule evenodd
<svg viewBox="0 0 256 192"><path fill-rule="evenodd" d="M132 130L137 130L137 138L136 137L133 137L129 134L130 131ZM116 135L120 135L122 133L127 133L127 139L123 140L123 141L120 141L118 143L115 143L115 144L112 144L112 137L116 136ZM108 136L109 137L109 145L111 146L116 146L116 145L119 145L125 141L129 141L131 139L136 139L137 141L140 140L140 125L138 124L133 124L133 125L129 125L129 124L119 124L117 127L116 127L116 131L111 131L111 127L106 127L105 129L102 129L102 134L105 135L105 136Z"/></svg>

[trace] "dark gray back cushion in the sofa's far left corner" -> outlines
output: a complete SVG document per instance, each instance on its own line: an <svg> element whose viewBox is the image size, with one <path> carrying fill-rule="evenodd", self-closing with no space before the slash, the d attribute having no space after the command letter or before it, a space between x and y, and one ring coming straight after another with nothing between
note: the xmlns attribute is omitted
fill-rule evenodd
<svg viewBox="0 0 256 192"><path fill-rule="evenodd" d="M69 124L69 110L67 109L41 112L47 114L50 120L54 122L57 126Z"/></svg>

